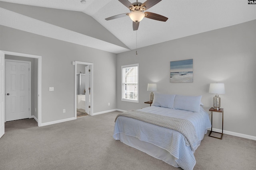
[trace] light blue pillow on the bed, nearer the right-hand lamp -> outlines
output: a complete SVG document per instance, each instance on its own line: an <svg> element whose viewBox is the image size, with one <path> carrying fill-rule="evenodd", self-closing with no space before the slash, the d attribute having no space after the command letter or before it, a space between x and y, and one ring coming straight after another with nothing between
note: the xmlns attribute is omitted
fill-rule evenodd
<svg viewBox="0 0 256 170"><path fill-rule="evenodd" d="M182 96L176 94L174 99L174 109L199 112L202 96Z"/></svg>

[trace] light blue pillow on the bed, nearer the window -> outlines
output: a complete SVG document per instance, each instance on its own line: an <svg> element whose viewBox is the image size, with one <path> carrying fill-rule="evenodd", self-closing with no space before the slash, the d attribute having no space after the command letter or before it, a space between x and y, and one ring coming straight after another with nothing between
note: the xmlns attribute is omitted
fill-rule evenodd
<svg viewBox="0 0 256 170"><path fill-rule="evenodd" d="M154 93L154 100L152 106L173 108L175 94L160 94Z"/></svg>

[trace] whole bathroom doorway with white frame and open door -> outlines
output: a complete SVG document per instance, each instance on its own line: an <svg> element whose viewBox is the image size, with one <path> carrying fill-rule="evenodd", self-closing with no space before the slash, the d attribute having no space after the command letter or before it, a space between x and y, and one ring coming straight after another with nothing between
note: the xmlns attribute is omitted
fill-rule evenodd
<svg viewBox="0 0 256 170"><path fill-rule="evenodd" d="M92 115L92 63L75 62L75 117Z"/></svg>

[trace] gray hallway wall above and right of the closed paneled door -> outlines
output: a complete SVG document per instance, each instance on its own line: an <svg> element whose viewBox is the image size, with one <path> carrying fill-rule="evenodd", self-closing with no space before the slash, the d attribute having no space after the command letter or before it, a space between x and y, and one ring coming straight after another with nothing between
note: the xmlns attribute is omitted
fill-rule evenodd
<svg viewBox="0 0 256 170"><path fill-rule="evenodd" d="M19 60L19 61L30 61L31 62L31 115L34 115L38 118L38 104L37 104L37 81L38 81L38 59L28 58L28 57L20 57L13 55L5 55L5 59L10 60Z"/></svg>

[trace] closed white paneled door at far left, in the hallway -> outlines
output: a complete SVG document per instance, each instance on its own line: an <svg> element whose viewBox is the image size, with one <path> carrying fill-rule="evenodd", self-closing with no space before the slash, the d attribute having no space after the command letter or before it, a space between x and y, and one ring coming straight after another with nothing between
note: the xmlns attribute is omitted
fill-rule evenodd
<svg viewBox="0 0 256 170"><path fill-rule="evenodd" d="M6 121L29 118L29 63L6 61Z"/></svg>

